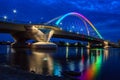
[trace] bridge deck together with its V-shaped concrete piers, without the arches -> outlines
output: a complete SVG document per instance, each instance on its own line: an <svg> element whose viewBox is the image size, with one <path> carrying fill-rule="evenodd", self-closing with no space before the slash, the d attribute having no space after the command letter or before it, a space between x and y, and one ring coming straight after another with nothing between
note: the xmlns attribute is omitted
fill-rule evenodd
<svg viewBox="0 0 120 80"><path fill-rule="evenodd" d="M44 33L41 29L49 29L49 32ZM48 42L51 37L86 41L94 44L102 43L104 40L90 37L83 34L62 31L59 28L45 25L21 25L0 22L0 33L10 33L17 45L24 45L27 40L34 39L37 42Z"/></svg>

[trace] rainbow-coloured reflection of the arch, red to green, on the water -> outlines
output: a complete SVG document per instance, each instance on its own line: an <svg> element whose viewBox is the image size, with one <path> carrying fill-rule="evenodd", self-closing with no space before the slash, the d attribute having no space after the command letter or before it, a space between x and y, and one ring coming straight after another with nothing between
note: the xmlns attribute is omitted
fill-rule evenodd
<svg viewBox="0 0 120 80"><path fill-rule="evenodd" d="M81 75L82 80L94 80L94 78L99 74L103 53L102 49L95 49L90 51L90 58L88 59L91 64L88 64L88 68Z"/></svg>

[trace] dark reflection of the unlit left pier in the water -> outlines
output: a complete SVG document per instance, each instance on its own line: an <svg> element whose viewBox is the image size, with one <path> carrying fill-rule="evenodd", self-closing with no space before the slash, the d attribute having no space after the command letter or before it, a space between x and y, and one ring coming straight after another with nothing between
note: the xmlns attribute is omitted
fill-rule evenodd
<svg viewBox="0 0 120 80"><path fill-rule="evenodd" d="M12 67L29 71L29 58L26 49L12 49L10 65Z"/></svg>

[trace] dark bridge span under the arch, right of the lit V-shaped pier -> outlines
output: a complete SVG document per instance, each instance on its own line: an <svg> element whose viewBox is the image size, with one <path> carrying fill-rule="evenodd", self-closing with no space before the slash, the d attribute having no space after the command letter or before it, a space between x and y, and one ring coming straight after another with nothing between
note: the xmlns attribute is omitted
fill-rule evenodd
<svg viewBox="0 0 120 80"><path fill-rule="evenodd" d="M97 39L97 38L89 37L83 34L70 33L66 31L54 31L53 37L71 39L71 40L79 40L79 41L85 41L85 42L94 42L94 43L104 42L102 39Z"/></svg>

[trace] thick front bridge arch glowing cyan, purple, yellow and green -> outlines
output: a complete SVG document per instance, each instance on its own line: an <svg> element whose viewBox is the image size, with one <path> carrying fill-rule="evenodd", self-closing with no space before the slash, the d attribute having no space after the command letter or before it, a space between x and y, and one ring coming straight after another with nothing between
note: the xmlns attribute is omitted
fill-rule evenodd
<svg viewBox="0 0 120 80"><path fill-rule="evenodd" d="M65 14L65 15L63 15L63 16L61 16L57 21L56 21L56 25L59 25L60 24L60 22L64 19L64 18L66 18L67 16L69 16L69 15L74 15L74 16L77 16L77 17L79 17L79 18L82 18L82 19L84 19L86 22L88 22L88 24L95 30L95 32L97 33L97 35L99 36L99 38L100 39L103 39L103 37L101 36L101 34L98 32L98 30L95 28L95 26L85 17L85 16L83 16L82 14L80 14L80 13L77 13L77 12L70 12L70 13L67 13L67 14Z"/></svg>

